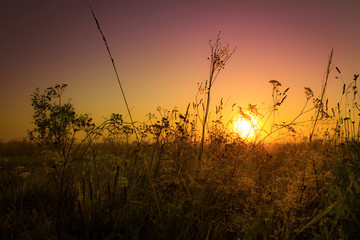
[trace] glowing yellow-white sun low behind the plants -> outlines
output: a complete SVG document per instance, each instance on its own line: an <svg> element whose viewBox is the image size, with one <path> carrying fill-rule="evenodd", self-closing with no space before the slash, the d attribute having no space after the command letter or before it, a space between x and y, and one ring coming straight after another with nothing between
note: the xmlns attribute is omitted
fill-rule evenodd
<svg viewBox="0 0 360 240"><path fill-rule="evenodd" d="M233 130L243 139L254 137L258 122L251 115L237 116L233 121Z"/></svg>

